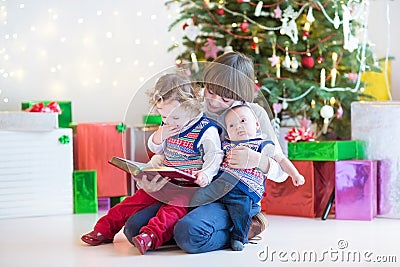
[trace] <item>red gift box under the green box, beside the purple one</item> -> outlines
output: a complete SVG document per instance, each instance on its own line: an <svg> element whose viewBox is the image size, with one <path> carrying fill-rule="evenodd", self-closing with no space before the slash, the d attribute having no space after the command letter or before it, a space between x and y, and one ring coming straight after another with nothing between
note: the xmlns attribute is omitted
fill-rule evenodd
<svg viewBox="0 0 400 267"><path fill-rule="evenodd" d="M304 176L304 185L294 186L290 177L283 183L267 180L262 210L275 215L321 217L335 187L335 162L292 162Z"/></svg>

